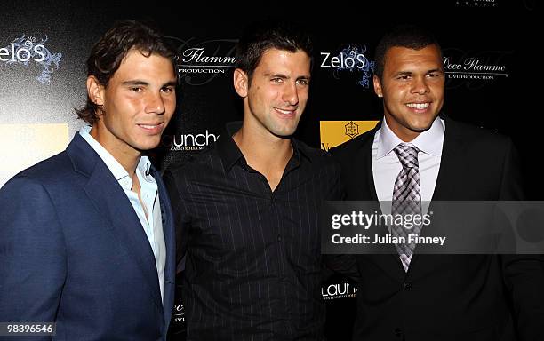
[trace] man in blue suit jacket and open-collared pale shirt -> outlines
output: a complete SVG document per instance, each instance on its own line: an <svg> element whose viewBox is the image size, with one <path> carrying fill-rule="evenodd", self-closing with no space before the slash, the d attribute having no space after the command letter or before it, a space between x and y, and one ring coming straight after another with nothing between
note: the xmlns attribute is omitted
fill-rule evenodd
<svg viewBox="0 0 544 341"><path fill-rule="evenodd" d="M56 324L29 339L165 339L175 237L144 153L175 109L172 56L154 29L116 23L87 60L89 125L0 190L0 322Z"/></svg>

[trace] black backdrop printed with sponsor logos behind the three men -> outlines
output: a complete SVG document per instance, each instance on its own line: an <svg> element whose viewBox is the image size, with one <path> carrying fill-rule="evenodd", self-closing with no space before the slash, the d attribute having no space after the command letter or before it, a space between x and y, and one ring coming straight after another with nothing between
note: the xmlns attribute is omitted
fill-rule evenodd
<svg viewBox="0 0 544 341"><path fill-rule="evenodd" d="M168 4L166 4L168 3ZM244 25L268 15L300 20L315 38L310 99L297 136L328 150L372 129L382 108L372 90L374 47L400 23L431 28L444 50L444 112L500 131L523 157L527 193L542 199L540 25L536 0L444 0L396 4L324 2L199 9L182 2L138 6L126 1L3 1L0 4L0 186L22 169L62 151L83 122L84 62L114 20L155 20L178 51L179 105L154 153L156 166L187 162L242 118L232 88L234 47ZM405 2L399 2L405 3ZM230 6L230 7L229 7ZM318 6L319 8L314 8ZM247 14L249 13L249 14ZM516 24L514 24L516 22ZM349 186L349 184L347 184ZM0 210L2 210L0 208ZM324 282L327 336L348 340L356 289L347 279ZM84 306L82 306L84 309ZM182 339L183 306L172 335Z"/></svg>

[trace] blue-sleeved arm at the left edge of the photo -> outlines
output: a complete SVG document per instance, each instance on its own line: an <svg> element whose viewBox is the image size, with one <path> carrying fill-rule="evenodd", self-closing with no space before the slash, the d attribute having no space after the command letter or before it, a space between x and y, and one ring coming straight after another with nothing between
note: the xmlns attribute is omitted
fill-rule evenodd
<svg viewBox="0 0 544 341"><path fill-rule="evenodd" d="M54 322L67 259L51 197L36 181L17 177L0 189L0 208L0 321Z"/></svg>

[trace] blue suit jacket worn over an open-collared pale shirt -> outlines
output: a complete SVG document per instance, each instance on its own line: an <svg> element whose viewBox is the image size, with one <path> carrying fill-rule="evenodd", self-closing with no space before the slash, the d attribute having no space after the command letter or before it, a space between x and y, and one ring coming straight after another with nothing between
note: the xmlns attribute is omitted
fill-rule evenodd
<svg viewBox="0 0 544 341"><path fill-rule="evenodd" d="M173 307L175 237L164 184L155 168L151 174L166 243L164 302L140 220L77 133L66 151L0 189L0 322L54 321L52 339L59 340L164 340Z"/></svg>

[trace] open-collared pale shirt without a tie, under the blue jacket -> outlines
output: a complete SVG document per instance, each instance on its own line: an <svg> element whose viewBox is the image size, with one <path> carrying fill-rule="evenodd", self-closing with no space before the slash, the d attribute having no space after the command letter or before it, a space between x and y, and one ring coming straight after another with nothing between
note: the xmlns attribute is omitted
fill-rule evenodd
<svg viewBox="0 0 544 341"><path fill-rule="evenodd" d="M100 159L108 166L109 171L114 175L119 185L123 188L124 194L132 204L132 208L136 212L136 215L140 219L141 226L144 232L148 236L149 245L155 255L156 273L159 280L159 287L161 289L161 297L164 299L164 265L166 263L166 245L164 243L163 234L163 219L161 216L161 205L158 196L158 187L156 180L149 175L149 168L151 162L148 156L141 156L140 162L136 167L136 176L140 182L140 197L138 194L132 192L132 178L128 172L119 163L113 155L109 154L106 148L102 147L100 143L92 138L89 134L91 127L85 125L79 134L89 146L100 156ZM145 210L142 203L145 206ZM152 215L146 217L146 212L152 212ZM129 289L129 288L127 288Z"/></svg>

